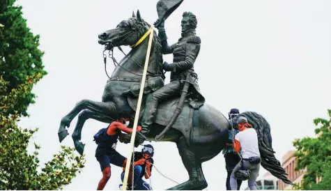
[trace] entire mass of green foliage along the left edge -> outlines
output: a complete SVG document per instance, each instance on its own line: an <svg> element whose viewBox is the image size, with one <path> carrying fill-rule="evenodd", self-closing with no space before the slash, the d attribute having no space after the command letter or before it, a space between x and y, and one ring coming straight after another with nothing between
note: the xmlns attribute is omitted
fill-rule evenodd
<svg viewBox="0 0 331 191"><path fill-rule="evenodd" d="M84 167L84 155L62 146L52 160L40 164L40 146L33 143L36 129L17 126L34 102L31 92L44 75L39 36L34 36L15 0L0 0L0 190L59 190Z"/></svg>

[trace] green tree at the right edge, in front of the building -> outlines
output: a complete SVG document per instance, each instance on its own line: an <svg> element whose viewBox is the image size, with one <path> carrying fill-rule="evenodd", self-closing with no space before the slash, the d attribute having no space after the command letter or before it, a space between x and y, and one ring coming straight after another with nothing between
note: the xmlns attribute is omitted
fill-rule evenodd
<svg viewBox="0 0 331 191"><path fill-rule="evenodd" d="M331 109L328 114L331 117ZM331 120L318 118L314 123L317 137L305 137L293 142L297 149L296 169L307 168L301 185L295 185L297 190L331 190ZM317 177L322 177L322 181L316 183Z"/></svg>

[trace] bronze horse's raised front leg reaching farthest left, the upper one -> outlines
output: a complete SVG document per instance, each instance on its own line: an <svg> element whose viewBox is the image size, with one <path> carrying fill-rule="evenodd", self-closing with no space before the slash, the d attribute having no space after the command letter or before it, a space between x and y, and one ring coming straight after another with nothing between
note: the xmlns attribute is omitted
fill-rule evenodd
<svg viewBox="0 0 331 191"><path fill-rule="evenodd" d="M117 119L116 105L114 102L95 102L92 100L82 100L78 102L69 114L61 119L60 128L58 131L59 141L62 142L69 133L66 128L69 128L72 119L79 114L83 109L89 109L95 113L109 116L110 118Z"/></svg>

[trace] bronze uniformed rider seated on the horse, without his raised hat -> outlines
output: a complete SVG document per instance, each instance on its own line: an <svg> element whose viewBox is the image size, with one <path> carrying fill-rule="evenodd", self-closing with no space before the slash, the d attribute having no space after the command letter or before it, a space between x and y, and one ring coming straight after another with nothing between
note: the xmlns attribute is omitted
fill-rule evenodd
<svg viewBox="0 0 331 191"><path fill-rule="evenodd" d="M205 98L203 98L203 95L201 95L199 90L197 75L194 73L194 62L199 55L201 43L199 36L196 35L197 17L190 12L183 13L183 20L181 21L181 38L177 43L171 46L169 46L167 42L167 34L164 29L164 18L162 20L157 20L154 24L159 31L158 36L161 40L162 54L173 54L174 62L164 62L163 64L164 70L171 72L171 82L147 95L146 109L141 121L142 130L137 134L139 142L144 142L144 140L146 140L146 135L155 121L157 104L159 102L176 98L180 94L182 95L181 100L185 100L187 92L182 91L184 82L187 85L192 84L191 89L187 88L188 91L190 91L190 105L194 109L199 108L205 102ZM183 93L181 93L181 91ZM180 106L178 104L178 107L183 107L183 105Z"/></svg>

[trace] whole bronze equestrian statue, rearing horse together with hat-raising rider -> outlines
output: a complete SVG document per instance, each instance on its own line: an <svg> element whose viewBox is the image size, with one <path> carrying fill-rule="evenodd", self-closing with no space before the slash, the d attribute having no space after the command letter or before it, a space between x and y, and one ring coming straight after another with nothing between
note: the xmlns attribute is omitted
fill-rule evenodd
<svg viewBox="0 0 331 191"><path fill-rule="evenodd" d="M141 80L144 79L146 84L142 87L141 92L144 93L140 107L140 112L143 112L142 133L137 134L138 144L144 142L146 138L154 140L155 136L158 137L157 141L176 143L189 179L169 190L200 190L208 186L203 175L202 163L211 160L226 147L229 128L232 126L235 128L236 124L226 119L215 107L205 103L199 91L197 75L193 69L201 43L195 33L197 27L195 15L185 12L181 24L182 37L174 45L169 46L167 43L164 20L182 1L157 2L157 12L160 14L155 27L159 30L158 36L153 27L144 21L139 11L137 16L133 13L132 17L120 22L116 28L100 33L98 43L104 45L106 50L130 46L130 52L118 63L114 61L116 68L105 84L102 100L84 99L77 102L75 107L61 119L58 135L59 142L62 142L68 136L67 128L70 127L70 123L78 116L72 132L72 141L77 152L83 155L84 144L81 139L86 120L95 119L102 123L112 123L124 118L133 121L133 116L139 112L137 100L139 100ZM153 33L152 38L149 36L150 33ZM149 38L151 38L150 49L148 49ZM163 62L162 54L171 53L174 54L173 63ZM146 58L148 58L147 71L144 70L143 65ZM105 57L104 59L106 62ZM164 70L171 72L171 82L165 86ZM146 79L143 77L145 72ZM285 176L286 171L275 158L268 122L255 112L243 112L236 118L240 116L245 116L251 121L252 127L258 134L262 167L282 179L284 183L291 183ZM133 125L128 125L128 128L133 128ZM118 136L125 137L125 135Z"/></svg>

